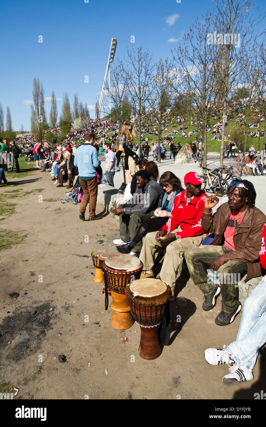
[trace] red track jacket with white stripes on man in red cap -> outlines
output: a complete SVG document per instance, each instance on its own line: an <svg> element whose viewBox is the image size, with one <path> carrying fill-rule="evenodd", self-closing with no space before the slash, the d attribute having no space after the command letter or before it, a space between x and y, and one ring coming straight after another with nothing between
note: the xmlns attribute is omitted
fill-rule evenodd
<svg viewBox="0 0 266 427"><path fill-rule="evenodd" d="M186 191L183 190L175 196L171 216L168 222L161 228L161 230L164 230L168 234L180 225L182 231L175 233L176 238L200 236L205 232L201 225L205 191L202 190L200 196L193 196L188 205L185 199Z"/></svg>

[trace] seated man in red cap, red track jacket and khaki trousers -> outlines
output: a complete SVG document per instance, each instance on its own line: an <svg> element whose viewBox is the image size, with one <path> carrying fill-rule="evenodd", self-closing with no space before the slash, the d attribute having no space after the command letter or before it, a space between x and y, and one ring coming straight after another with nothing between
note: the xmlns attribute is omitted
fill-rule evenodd
<svg viewBox="0 0 266 427"><path fill-rule="evenodd" d="M174 200L171 216L161 230L146 234L140 260L143 262L141 279L154 277L154 255L160 248L166 248L160 279L171 287L174 297L176 275L186 251L199 246L206 237L201 225L205 203L205 192L201 190L204 181L198 173L189 172L184 176L186 190Z"/></svg>

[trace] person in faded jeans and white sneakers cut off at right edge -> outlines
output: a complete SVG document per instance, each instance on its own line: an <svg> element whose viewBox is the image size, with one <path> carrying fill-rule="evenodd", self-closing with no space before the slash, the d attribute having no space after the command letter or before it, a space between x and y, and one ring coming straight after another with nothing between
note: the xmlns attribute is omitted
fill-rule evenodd
<svg viewBox="0 0 266 427"><path fill-rule="evenodd" d="M260 264L266 269L266 224L262 232ZM237 382L253 380L252 370L255 366L259 349L266 342L266 275L246 299L236 341L222 350L206 348L204 357L210 365L227 363L229 374L222 382L233 385Z"/></svg>

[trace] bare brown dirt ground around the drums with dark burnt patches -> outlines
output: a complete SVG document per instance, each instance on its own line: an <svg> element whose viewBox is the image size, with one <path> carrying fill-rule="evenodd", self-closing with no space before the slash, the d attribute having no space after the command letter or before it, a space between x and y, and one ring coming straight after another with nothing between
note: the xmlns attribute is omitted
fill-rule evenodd
<svg viewBox="0 0 266 427"><path fill-rule="evenodd" d="M216 326L221 299L204 312L202 293L184 273L177 289L187 307L170 303L170 345L158 359L142 359L140 327L114 330L102 284L93 280L91 252L115 250L109 245L119 238L117 219L105 214L100 221L81 221L78 205L60 204L66 189L56 188L48 173L36 171L23 185L10 182L8 190L45 189L16 199L16 213L0 223L27 233L22 244L0 252L0 384L19 388L16 399L254 399L254 393L266 390L265 348L254 380L233 387L222 383L227 365L205 362L205 348L235 340L240 316L230 326ZM96 213L101 211L98 205Z"/></svg>

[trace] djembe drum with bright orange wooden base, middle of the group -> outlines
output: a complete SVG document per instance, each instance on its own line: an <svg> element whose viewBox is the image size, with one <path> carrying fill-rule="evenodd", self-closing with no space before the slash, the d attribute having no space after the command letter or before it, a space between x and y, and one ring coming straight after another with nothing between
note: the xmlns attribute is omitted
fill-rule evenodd
<svg viewBox="0 0 266 427"><path fill-rule="evenodd" d="M103 263L113 299L110 307L114 310L111 317L114 329L128 329L134 323L125 288L131 281L140 278L142 268L143 263L134 255L115 255Z"/></svg>

